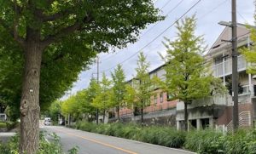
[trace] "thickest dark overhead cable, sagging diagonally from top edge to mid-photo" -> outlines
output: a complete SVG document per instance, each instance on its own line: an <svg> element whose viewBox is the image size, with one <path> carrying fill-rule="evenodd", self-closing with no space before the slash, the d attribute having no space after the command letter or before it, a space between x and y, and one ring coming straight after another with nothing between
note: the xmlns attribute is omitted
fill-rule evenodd
<svg viewBox="0 0 256 154"><path fill-rule="evenodd" d="M129 56L127 59L125 59L125 60L119 62L119 64L125 63L125 61L130 60L133 56L137 55L137 54L138 54L140 51L142 51L144 48L148 47L149 44L153 43L157 38L159 38L162 34L164 34L164 33L165 33L167 30L169 30L172 26L174 26L174 25L177 23L178 20L181 20L181 19L183 18L183 16L185 16L186 14L188 14L189 11L190 11L191 9L195 8L195 6L196 6L198 3L200 3L200 2L201 2L201 0L198 0L198 1L197 1L193 6L191 6L183 15L181 15L177 20L175 20L175 21L172 23L171 26L168 26L168 27L167 27L164 31L162 31L158 36L154 37L153 40L151 40L149 43L147 43L146 45L144 45L143 48L140 48L135 54L132 54L132 55ZM117 66L117 65L115 65L115 66ZM115 66L110 67L110 68L108 68L108 69L106 69L106 70L104 70L104 71L109 71L109 70L113 69Z"/></svg>

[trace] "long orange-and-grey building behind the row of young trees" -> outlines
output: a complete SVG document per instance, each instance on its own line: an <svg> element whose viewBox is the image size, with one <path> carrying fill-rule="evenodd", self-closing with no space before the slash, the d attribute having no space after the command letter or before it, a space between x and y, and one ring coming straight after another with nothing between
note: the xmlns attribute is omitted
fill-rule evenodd
<svg viewBox="0 0 256 154"><path fill-rule="evenodd" d="M159 77L165 80L165 65L159 66L149 72L150 77ZM127 83L133 85L137 80L131 79ZM154 95L149 99L148 106L143 110L144 123L148 124L169 124L176 125L176 104L177 100L170 100L169 96L162 89L154 87ZM130 109L123 106L120 108L119 116L122 121L140 121L141 113L139 110Z"/></svg>

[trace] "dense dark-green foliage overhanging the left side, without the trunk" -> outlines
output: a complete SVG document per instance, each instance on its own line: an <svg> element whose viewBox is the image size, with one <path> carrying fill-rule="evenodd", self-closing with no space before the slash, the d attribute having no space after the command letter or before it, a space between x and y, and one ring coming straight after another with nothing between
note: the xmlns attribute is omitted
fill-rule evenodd
<svg viewBox="0 0 256 154"><path fill-rule="evenodd" d="M71 88L96 52L133 43L139 30L162 19L151 0L0 0L0 90L12 91L9 98L20 97L22 51L28 41L33 41L44 48L40 77L40 104L44 110ZM14 57L16 64L7 57ZM8 101L19 104L19 99Z"/></svg>

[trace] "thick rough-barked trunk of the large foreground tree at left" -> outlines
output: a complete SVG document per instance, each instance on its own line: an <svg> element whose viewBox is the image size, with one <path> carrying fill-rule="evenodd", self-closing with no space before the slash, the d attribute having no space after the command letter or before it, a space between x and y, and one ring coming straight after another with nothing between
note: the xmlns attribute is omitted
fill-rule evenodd
<svg viewBox="0 0 256 154"><path fill-rule="evenodd" d="M28 43L20 100L20 154L35 154L39 145L39 83L42 48Z"/></svg>

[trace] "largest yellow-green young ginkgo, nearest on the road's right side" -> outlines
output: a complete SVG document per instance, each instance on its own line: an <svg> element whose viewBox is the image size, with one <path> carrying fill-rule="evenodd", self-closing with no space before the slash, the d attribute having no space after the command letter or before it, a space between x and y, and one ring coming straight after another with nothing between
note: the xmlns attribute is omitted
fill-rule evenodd
<svg viewBox="0 0 256 154"><path fill-rule="evenodd" d="M170 41L166 38L166 81L163 89L172 94L173 100L184 103L184 128L188 129L188 106L193 100L207 97L212 93L225 93L218 78L211 75L202 57L206 49L203 37L195 35L195 15L178 21L177 37Z"/></svg>

